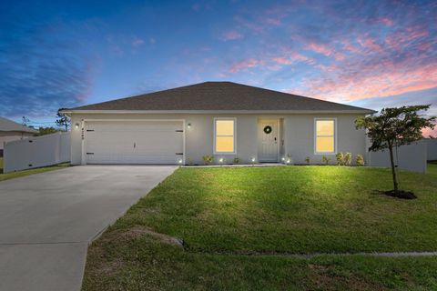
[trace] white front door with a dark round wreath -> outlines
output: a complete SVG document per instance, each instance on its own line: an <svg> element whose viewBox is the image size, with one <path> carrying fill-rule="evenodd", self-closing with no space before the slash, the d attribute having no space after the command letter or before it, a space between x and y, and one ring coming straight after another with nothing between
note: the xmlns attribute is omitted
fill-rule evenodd
<svg viewBox="0 0 437 291"><path fill-rule="evenodd" d="M258 158L259 162L278 162L279 157L278 120L259 120Z"/></svg>

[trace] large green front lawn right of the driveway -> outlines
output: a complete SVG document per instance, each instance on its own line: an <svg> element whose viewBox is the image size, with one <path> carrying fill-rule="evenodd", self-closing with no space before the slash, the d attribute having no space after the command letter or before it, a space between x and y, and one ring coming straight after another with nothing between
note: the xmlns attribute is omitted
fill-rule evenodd
<svg viewBox="0 0 437 291"><path fill-rule="evenodd" d="M416 200L390 188L367 167L181 168L93 243L83 289L435 289L436 257L266 256L437 250L434 174L401 172Z"/></svg>

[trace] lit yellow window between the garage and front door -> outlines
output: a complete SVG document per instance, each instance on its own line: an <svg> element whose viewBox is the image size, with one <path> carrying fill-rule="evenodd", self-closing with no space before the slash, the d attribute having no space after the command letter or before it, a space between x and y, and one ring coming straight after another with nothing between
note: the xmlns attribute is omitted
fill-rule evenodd
<svg viewBox="0 0 437 291"><path fill-rule="evenodd" d="M214 119L215 154L235 154L235 119Z"/></svg>

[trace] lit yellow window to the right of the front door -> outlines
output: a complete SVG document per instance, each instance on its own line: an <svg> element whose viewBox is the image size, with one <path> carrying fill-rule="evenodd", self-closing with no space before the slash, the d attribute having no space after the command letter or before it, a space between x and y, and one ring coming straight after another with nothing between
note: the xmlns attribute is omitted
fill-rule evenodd
<svg viewBox="0 0 437 291"><path fill-rule="evenodd" d="M316 119L316 153L335 153L335 120Z"/></svg>

